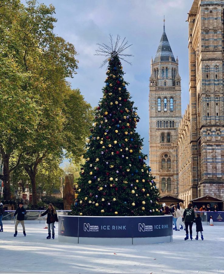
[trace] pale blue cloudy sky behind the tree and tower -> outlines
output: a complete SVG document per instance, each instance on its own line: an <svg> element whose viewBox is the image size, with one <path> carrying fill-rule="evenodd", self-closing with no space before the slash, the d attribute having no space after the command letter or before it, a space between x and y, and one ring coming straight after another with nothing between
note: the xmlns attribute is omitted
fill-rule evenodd
<svg viewBox="0 0 224 274"><path fill-rule="evenodd" d="M22 3L25 1L22 0ZM188 12L193 0L39 0L55 7L54 32L74 44L79 61L77 74L68 79L79 88L92 107L98 105L105 85L106 66L99 68L103 56L94 56L97 43L109 44L109 33L126 37L130 44L129 65L122 62L124 79L138 107L140 122L136 131L144 138L143 153L149 154L149 77L151 57L165 30L174 57L178 56L181 76L182 114L189 103Z"/></svg>

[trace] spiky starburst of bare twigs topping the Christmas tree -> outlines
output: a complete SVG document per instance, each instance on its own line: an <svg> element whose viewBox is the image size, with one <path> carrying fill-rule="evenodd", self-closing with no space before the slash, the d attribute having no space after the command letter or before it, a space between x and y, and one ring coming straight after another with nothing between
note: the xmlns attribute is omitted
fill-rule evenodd
<svg viewBox="0 0 224 274"><path fill-rule="evenodd" d="M134 56L133 54L125 54L124 51L132 46L132 44L128 44L128 41L125 40L126 37L124 37L124 39L121 41L121 37L118 34L115 40L115 44L113 42L113 36L111 34L109 34L109 40L110 40L110 44L106 45L106 44L99 44L98 45L98 49L96 49L96 54L94 55L102 55L105 56L105 59L103 60L100 68L102 68L104 65L107 64L108 58L109 57L113 57L115 55L118 55L119 58L123 61L125 61L126 63L132 65L132 63L130 63L129 61L126 60L126 57L131 57Z"/></svg>

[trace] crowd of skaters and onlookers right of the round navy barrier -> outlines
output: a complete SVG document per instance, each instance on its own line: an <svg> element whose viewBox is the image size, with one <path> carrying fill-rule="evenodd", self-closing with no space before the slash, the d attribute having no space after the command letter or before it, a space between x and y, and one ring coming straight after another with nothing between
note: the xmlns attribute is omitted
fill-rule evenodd
<svg viewBox="0 0 224 274"><path fill-rule="evenodd" d="M200 207L200 209L197 208L197 206L194 206L191 203L188 204L188 207L185 208L184 204L182 202L177 203L176 205L174 205L173 203L170 204L170 206L167 206L165 203L162 205L162 209L161 209L162 213L164 213L165 215L173 215L173 225L174 228L173 230L175 231L180 231L180 230L185 230L186 231L186 237L184 238L184 240L188 240L189 239L189 232L190 232L190 239L192 240L192 226L193 223L196 224L196 238L195 240L198 240L198 232L201 233L201 239L202 241L204 240L202 231L202 221L205 221L205 214L201 214L197 213L195 216L195 212L196 211L213 211L213 212L217 212L219 211L218 205L215 204L212 208L211 206L208 204L207 207L205 205L202 205L202 207ZM188 231L189 228L189 231Z"/></svg>

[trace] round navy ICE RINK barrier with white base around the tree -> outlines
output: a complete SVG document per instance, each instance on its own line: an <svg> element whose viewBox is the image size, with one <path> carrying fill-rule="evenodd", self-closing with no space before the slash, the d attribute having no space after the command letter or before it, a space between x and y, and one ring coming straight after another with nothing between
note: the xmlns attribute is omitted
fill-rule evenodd
<svg viewBox="0 0 224 274"><path fill-rule="evenodd" d="M153 244L173 241L173 216L58 216L58 240L75 244Z"/></svg>

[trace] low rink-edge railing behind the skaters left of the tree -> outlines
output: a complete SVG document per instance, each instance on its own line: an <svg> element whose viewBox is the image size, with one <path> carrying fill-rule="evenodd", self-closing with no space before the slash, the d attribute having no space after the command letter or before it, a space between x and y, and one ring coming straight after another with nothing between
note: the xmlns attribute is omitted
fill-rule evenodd
<svg viewBox="0 0 224 274"><path fill-rule="evenodd" d="M13 219L14 212L16 210L5 210L3 213L2 221L13 221L15 223L15 219ZM45 216L39 216L41 213L45 212L46 210L26 210L26 214L24 216L24 220L30 220L30 221L38 221L39 223L41 220L46 220L47 215ZM71 210L56 210L57 215L67 215L68 212Z"/></svg>

